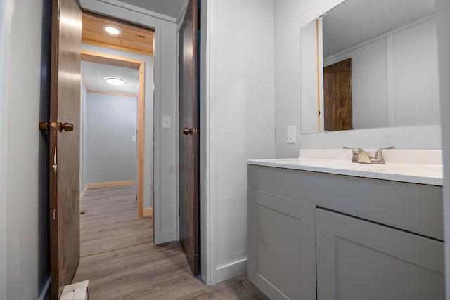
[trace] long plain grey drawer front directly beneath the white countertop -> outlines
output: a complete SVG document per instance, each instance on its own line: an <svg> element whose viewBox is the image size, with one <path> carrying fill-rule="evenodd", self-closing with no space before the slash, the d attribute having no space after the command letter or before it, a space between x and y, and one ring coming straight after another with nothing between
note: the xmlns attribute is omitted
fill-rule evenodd
<svg viewBox="0 0 450 300"><path fill-rule="evenodd" d="M440 186L255 165L248 186L444 240Z"/></svg>

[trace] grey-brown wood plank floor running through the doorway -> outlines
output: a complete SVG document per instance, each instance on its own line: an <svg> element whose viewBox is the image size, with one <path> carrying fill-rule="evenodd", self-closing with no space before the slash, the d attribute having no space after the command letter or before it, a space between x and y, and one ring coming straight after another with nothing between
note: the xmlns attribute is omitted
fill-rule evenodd
<svg viewBox="0 0 450 300"><path fill-rule="evenodd" d="M89 299L257 299L239 275L212 287L193 277L179 242L155 246L152 219L140 219L134 186L88 190L81 204L81 259L73 282Z"/></svg>

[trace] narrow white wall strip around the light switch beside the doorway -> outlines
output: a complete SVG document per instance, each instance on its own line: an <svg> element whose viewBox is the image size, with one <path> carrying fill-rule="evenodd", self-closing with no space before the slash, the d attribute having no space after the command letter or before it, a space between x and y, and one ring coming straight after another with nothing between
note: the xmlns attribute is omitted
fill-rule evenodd
<svg viewBox="0 0 450 300"><path fill-rule="evenodd" d="M178 202L176 200L176 23L159 21L155 48L155 243L178 239ZM159 62L158 62L159 59ZM162 129L162 116L172 116L172 129ZM151 141L150 141L151 143ZM155 214L155 211L156 214ZM158 235L157 235L158 231Z"/></svg>

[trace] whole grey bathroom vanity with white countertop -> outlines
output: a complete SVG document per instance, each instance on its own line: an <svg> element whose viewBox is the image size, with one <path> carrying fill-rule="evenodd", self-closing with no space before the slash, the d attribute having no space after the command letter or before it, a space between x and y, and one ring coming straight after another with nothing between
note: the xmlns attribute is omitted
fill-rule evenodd
<svg viewBox="0 0 450 300"><path fill-rule="evenodd" d="M248 278L270 299L444 299L439 151L248 161Z"/></svg>

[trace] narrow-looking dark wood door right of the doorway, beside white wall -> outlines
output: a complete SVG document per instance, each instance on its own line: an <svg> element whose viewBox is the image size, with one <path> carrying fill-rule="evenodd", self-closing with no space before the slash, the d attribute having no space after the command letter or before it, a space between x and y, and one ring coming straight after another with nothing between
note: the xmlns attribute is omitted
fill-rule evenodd
<svg viewBox="0 0 450 300"><path fill-rule="evenodd" d="M197 0L190 0L180 30L179 230L193 275L199 272Z"/></svg>

